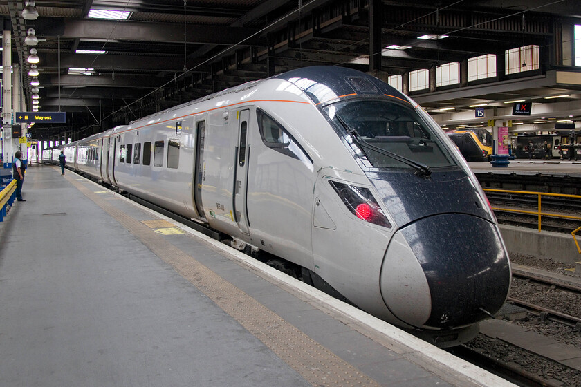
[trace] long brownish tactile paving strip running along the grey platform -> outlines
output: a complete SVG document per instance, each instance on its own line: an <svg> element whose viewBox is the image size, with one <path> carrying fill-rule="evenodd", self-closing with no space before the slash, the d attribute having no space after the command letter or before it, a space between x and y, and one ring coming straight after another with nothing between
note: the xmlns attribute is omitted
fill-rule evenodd
<svg viewBox="0 0 581 387"><path fill-rule="evenodd" d="M291 323L284 321L275 312L225 281L192 256L168 243L165 238L155 234L138 220L109 205L79 182L72 179L70 181L313 386L379 386L374 379L335 356Z"/></svg>

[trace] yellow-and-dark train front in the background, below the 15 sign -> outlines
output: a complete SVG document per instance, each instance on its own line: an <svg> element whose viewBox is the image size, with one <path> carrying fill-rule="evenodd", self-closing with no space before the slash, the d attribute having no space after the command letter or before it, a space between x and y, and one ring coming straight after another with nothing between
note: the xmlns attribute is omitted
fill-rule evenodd
<svg viewBox="0 0 581 387"><path fill-rule="evenodd" d="M468 162L489 162L492 155L492 135L486 129L466 128L447 131Z"/></svg>

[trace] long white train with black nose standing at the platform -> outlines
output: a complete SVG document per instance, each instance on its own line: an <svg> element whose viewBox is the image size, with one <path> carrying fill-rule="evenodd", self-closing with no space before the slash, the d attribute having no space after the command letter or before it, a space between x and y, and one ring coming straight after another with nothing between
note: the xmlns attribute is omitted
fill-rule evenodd
<svg viewBox="0 0 581 387"><path fill-rule="evenodd" d="M66 148L69 167L442 347L472 339L508 294L497 221L461 154L418 104L356 70L293 70Z"/></svg>

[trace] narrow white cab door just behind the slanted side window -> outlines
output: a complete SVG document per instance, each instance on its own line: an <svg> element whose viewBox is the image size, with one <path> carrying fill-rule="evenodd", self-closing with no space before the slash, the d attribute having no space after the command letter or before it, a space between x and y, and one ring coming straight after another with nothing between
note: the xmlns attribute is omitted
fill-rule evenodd
<svg viewBox="0 0 581 387"><path fill-rule="evenodd" d="M236 147L236 160L234 160L234 221L241 232L250 234L248 229L248 212L246 211L246 184L248 180L248 154L250 147L248 141L248 109L239 111L238 114L238 146Z"/></svg>

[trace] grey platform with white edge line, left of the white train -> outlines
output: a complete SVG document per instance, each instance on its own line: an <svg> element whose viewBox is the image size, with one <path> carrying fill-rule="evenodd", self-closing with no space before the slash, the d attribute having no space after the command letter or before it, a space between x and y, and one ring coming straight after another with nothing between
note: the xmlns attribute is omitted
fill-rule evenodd
<svg viewBox="0 0 581 387"><path fill-rule="evenodd" d="M512 386L75 173L23 195L1 386Z"/></svg>

